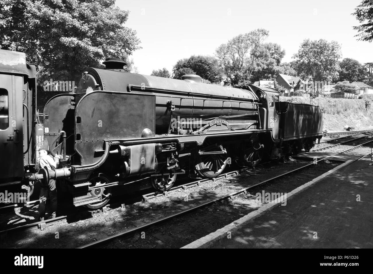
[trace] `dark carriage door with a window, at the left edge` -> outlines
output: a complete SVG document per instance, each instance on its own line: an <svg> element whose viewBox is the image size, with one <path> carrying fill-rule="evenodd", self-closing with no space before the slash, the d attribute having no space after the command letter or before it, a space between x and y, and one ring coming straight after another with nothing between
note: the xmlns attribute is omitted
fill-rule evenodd
<svg viewBox="0 0 373 274"><path fill-rule="evenodd" d="M23 176L22 86L22 76L0 74L0 181Z"/></svg>

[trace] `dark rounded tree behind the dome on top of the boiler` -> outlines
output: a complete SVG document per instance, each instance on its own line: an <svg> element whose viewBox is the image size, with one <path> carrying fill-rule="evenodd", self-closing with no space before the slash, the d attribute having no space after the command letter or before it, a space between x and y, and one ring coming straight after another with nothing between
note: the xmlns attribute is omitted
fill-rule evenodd
<svg viewBox="0 0 373 274"><path fill-rule="evenodd" d="M209 82L220 82L222 80L222 70L218 60L212 56L192 55L189 58L179 60L173 66L173 74L181 68L190 68L194 74L201 76ZM180 76L181 77L181 76Z"/></svg>

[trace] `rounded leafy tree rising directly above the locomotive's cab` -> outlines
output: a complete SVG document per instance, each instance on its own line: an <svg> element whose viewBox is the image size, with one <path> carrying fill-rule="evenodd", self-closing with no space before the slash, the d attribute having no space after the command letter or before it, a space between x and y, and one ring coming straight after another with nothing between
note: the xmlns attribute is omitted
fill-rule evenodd
<svg viewBox="0 0 373 274"><path fill-rule="evenodd" d="M275 78L278 71L282 69L280 62L284 56L285 50L279 44L263 43L260 45L256 54L252 53L250 57L255 57L251 81L253 82L260 78Z"/></svg>

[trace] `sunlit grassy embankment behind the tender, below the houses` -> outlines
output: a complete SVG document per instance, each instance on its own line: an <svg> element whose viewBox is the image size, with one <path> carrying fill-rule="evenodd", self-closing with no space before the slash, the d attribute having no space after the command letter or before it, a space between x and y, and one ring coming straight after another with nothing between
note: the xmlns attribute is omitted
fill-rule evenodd
<svg viewBox="0 0 373 274"><path fill-rule="evenodd" d="M344 131L344 127L354 130L373 128L373 95L363 95L362 99L314 98L313 105L320 107L324 117L324 130L328 132ZM310 103L310 98L280 97L280 101Z"/></svg>

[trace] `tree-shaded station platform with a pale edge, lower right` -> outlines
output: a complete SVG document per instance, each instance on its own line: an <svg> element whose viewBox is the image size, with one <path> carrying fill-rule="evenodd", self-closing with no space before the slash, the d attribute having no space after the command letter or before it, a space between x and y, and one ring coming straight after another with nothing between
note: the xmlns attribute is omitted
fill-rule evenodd
<svg viewBox="0 0 373 274"><path fill-rule="evenodd" d="M373 166L369 163L366 157L342 164L288 198L286 206L273 206L236 226L231 238L220 232L219 238L184 248L373 248Z"/></svg>

